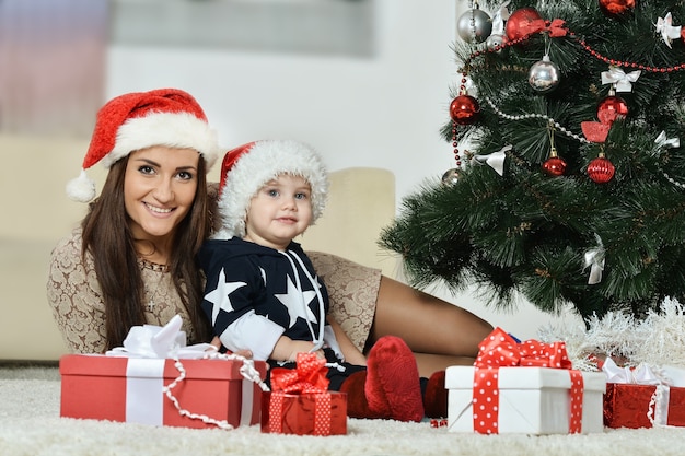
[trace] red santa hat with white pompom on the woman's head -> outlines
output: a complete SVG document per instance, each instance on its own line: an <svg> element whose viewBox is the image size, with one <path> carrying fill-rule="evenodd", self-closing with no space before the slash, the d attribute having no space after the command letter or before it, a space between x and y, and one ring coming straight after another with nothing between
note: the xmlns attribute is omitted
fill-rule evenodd
<svg viewBox="0 0 685 456"><path fill-rule="evenodd" d="M111 100L97 112L91 144L81 175L67 185L74 201L95 198L95 183L85 169L96 163L109 168L129 153L153 145L195 149L209 169L218 157L216 132L193 96L176 89L127 93Z"/></svg>

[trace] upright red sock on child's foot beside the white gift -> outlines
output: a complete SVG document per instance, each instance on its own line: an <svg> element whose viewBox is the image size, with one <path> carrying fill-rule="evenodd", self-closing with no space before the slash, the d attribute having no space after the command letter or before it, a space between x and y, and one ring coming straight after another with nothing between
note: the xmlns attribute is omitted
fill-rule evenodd
<svg viewBox="0 0 685 456"><path fill-rule="evenodd" d="M398 421L421 421L419 371L404 340L384 336L371 348L364 393L373 413Z"/></svg>

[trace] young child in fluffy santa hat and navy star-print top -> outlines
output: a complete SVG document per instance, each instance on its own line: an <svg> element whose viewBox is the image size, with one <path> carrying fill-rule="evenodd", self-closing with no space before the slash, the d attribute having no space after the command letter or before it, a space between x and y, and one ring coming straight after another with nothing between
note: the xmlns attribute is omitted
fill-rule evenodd
<svg viewBox="0 0 685 456"><path fill-rule="evenodd" d="M219 191L222 227L205 243L199 262L207 277L202 308L222 344L281 367L294 367L299 352L315 352L327 361L328 388L348 393L350 417L420 421L425 407L410 349L386 336L365 360L327 320L326 287L292 241L326 202L320 156L295 141L245 144L227 153Z"/></svg>

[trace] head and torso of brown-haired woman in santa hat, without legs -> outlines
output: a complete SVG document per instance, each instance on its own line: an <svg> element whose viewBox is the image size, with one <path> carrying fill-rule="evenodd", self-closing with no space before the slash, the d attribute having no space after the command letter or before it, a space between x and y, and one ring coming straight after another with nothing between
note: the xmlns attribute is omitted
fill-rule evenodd
<svg viewBox="0 0 685 456"><path fill-rule="evenodd" d="M181 314L190 342L209 340L195 254L209 233L206 173L214 132L177 90L129 93L105 104L68 195L90 201L85 169L109 171L81 226L55 248L47 295L71 351L121 346L130 327Z"/></svg>

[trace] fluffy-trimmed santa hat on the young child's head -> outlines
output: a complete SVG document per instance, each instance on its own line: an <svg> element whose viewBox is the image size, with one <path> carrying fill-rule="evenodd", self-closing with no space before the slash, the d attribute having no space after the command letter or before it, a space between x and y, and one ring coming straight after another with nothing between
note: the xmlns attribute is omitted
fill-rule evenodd
<svg viewBox="0 0 685 456"><path fill-rule="evenodd" d="M328 195L328 173L318 154L298 141L256 141L235 148L223 157L218 202L222 227L213 237L244 237L252 198L266 183L281 174L301 176L312 187L314 224Z"/></svg>

